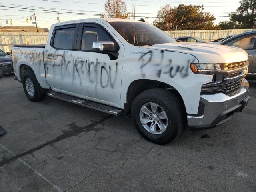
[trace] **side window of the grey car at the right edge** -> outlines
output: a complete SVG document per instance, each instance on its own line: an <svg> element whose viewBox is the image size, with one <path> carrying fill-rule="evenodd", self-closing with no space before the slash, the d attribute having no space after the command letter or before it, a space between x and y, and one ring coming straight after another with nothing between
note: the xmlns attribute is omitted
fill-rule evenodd
<svg viewBox="0 0 256 192"><path fill-rule="evenodd" d="M241 36L236 39L233 39L227 42L225 45L239 47L244 50L249 50L254 48L255 42L256 42L256 34L252 34L250 36Z"/></svg>

